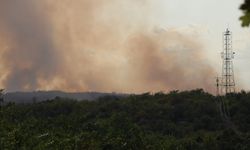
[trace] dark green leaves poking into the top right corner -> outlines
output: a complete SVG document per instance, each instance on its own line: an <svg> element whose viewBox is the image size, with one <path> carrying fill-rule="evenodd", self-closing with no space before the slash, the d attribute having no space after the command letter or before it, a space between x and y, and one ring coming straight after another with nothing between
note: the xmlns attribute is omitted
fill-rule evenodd
<svg viewBox="0 0 250 150"><path fill-rule="evenodd" d="M245 0L245 2L240 6L243 11L243 16L240 17L241 25L243 27L249 27L250 25L250 0Z"/></svg>

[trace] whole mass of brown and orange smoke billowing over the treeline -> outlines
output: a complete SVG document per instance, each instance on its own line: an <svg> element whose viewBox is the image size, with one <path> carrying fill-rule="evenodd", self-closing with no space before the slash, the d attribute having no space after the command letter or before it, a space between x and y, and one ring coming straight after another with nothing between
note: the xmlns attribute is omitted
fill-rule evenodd
<svg viewBox="0 0 250 150"><path fill-rule="evenodd" d="M0 80L8 90L146 92L205 88L202 44L154 30L146 0L1 0Z"/></svg>

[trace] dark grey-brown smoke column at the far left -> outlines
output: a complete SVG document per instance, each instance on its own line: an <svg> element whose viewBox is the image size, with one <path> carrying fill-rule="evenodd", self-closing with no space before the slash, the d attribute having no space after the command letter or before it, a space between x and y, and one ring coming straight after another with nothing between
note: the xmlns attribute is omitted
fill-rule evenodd
<svg viewBox="0 0 250 150"><path fill-rule="evenodd" d="M38 78L50 80L57 68L49 20L32 1L1 0L0 11L5 88L35 89Z"/></svg>

